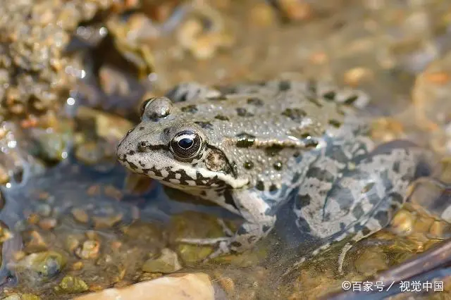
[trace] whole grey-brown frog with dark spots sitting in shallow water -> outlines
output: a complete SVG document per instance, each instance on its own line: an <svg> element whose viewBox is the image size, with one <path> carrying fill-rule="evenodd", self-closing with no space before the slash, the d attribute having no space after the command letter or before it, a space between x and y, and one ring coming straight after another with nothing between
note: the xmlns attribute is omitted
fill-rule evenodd
<svg viewBox="0 0 451 300"><path fill-rule="evenodd" d="M244 219L236 232L224 227L224 237L180 239L214 246L207 260L252 248L292 205L297 229L320 241L295 265L351 237L341 271L347 251L388 225L431 161L408 140L375 142L362 113L369 102L365 92L320 80L183 82L143 102L116 155L132 173Z"/></svg>

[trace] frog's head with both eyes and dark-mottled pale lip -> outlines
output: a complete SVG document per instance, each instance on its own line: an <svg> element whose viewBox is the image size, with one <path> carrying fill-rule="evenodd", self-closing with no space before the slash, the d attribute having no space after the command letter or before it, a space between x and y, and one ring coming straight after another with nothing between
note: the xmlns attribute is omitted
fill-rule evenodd
<svg viewBox="0 0 451 300"><path fill-rule="evenodd" d="M118 160L134 173L183 189L240 188L240 178L226 154L166 97L144 101L142 122L130 130L116 150Z"/></svg>

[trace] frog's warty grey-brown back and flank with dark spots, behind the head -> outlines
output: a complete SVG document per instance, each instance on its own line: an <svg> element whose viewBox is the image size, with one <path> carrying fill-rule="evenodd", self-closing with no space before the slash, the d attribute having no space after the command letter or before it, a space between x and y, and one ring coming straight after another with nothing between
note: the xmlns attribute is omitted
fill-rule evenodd
<svg viewBox="0 0 451 300"><path fill-rule="evenodd" d="M265 191L287 187L328 137L355 135L355 108L366 104L355 90L338 94L315 82L274 80L219 90L178 102L181 117L200 125L235 172Z"/></svg>

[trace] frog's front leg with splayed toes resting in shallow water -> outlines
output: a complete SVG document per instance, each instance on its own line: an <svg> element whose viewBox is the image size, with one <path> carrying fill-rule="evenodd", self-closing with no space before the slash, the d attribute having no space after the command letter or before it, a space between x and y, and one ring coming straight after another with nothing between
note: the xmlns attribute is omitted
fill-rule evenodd
<svg viewBox="0 0 451 300"><path fill-rule="evenodd" d="M206 260L222 254L235 254L254 246L261 238L266 237L276 223L276 215L262 197L261 192L255 190L234 190L230 192L234 206L245 218L234 235L214 239L180 239L179 242L188 244L214 244L215 250ZM221 203L218 203L221 205Z"/></svg>

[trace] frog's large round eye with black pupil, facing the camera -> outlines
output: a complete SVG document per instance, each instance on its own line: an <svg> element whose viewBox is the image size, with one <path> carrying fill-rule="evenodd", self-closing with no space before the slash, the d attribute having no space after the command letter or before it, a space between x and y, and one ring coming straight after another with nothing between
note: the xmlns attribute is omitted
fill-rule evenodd
<svg viewBox="0 0 451 300"><path fill-rule="evenodd" d="M202 149L202 139L196 132L179 132L171 141L171 151L178 158L193 158Z"/></svg>

